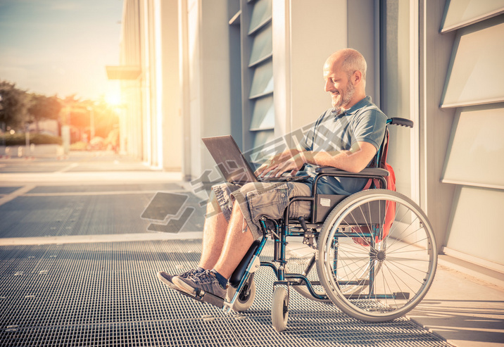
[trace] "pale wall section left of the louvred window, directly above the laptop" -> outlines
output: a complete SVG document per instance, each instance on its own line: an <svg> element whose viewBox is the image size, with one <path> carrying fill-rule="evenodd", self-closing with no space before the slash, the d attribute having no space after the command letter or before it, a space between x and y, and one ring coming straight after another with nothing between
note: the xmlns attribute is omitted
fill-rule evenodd
<svg viewBox="0 0 504 347"><path fill-rule="evenodd" d="M182 0L183 1L183 0ZM190 172L196 178L215 165L201 137L229 134L229 42L226 0L187 1L187 62L189 101L182 113L189 116L190 139L184 156L191 156Z"/></svg>

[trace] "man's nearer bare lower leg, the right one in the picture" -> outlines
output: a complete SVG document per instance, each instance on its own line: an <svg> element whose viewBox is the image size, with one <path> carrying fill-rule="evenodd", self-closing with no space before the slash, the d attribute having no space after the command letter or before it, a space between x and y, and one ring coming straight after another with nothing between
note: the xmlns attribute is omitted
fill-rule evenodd
<svg viewBox="0 0 504 347"><path fill-rule="evenodd" d="M244 226L246 227L245 232L243 231ZM246 226L246 222L244 224L244 216L241 214L238 203L235 202L231 220L229 220L229 226L227 227L224 247L220 249L220 257L218 257L213 268L220 275L229 279L253 241L252 233Z"/></svg>

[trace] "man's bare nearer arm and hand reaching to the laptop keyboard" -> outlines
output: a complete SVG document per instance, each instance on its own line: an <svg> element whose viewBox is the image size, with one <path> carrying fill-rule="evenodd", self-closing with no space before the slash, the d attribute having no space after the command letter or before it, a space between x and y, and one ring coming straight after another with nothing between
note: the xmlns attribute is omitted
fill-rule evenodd
<svg viewBox="0 0 504 347"><path fill-rule="evenodd" d="M284 152L285 153L285 152ZM286 171L291 171L291 175L296 175L304 164L317 166L331 166L333 168L348 172L360 172L372 160L377 153L377 149L369 142L359 141L350 151L298 151L296 155L284 160L270 161L258 169L258 175L279 177Z"/></svg>

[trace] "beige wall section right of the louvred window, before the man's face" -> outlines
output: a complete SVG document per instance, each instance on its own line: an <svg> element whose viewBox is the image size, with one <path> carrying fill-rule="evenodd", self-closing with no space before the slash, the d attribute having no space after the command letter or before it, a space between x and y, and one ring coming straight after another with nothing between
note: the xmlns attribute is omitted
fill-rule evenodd
<svg viewBox="0 0 504 347"><path fill-rule="evenodd" d="M273 1L275 136L314 122L331 107L322 67L347 46L346 0Z"/></svg>

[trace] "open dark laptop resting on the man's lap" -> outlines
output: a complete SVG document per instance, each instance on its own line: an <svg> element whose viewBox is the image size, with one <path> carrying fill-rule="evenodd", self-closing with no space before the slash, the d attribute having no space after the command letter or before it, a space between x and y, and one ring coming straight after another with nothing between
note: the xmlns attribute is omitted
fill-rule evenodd
<svg viewBox="0 0 504 347"><path fill-rule="evenodd" d="M231 135L203 137L203 144L210 152L227 182L245 184L248 182L289 182L302 181L309 176L256 177L251 165L241 153Z"/></svg>

